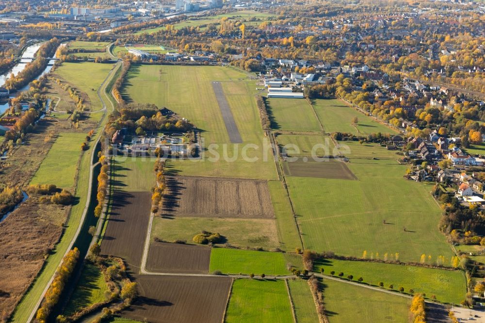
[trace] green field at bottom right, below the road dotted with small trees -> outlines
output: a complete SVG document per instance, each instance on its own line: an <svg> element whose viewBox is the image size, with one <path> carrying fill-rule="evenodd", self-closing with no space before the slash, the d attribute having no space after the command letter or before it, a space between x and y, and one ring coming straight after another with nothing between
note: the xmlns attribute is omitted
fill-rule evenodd
<svg viewBox="0 0 485 323"><path fill-rule="evenodd" d="M408 298L323 280L325 313L331 323L409 322Z"/></svg>

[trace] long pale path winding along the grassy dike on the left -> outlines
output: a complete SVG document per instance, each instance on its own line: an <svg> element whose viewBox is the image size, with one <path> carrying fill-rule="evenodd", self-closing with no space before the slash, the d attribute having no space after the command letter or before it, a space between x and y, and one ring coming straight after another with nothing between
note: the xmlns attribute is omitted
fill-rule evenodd
<svg viewBox="0 0 485 323"><path fill-rule="evenodd" d="M103 99L103 97L101 96L101 92L102 92L103 96L105 96L106 99L108 99L108 101L110 101L110 103L111 103L111 100L109 100L109 98L107 97L108 94L106 93L106 87L108 86L108 84L110 83L110 81L112 80L113 76L116 74L116 71L118 70L118 68L120 66L121 66L121 63L117 63L113 67L113 69L110 71L110 73L108 73L108 75L106 76L106 79L101 83L101 85L98 88L97 96L99 97L99 99L101 100L101 103L103 105L103 108L101 109L102 111L105 111L106 110L106 102ZM111 106L113 108L113 103L111 103ZM112 110L112 109L110 109L110 110ZM90 153L92 155L91 155L91 163L90 163L90 169L89 169L89 183L88 183L89 186L88 186L88 193L87 193L86 205L85 205L84 210L82 212L82 216L81 216L80 223L77 223L77 224L69 224L69 225L77 225L78 227L77 227L77 231L76 231L73 239L69 243L68 248L65 250L64 256L72 249L74 243L76 242L76 239L78 238L78 236L79 236L79 234L81 232L82 225L83 225L83 223L84 223L84 221L86 219L87 210L88 210L89 204L91 202L91 190L92 190L92 182L93 182L93 171L94 171L94 167L95 167L95 165L94 165L94 158L95 158L94 149L95 149L95 147L97 146L97 144L99 142L99 138L101 136L101 132L102 132L104 123L106 122L106 119L107 119L107 115L105 115L101 119L101 122L100 122L100 125L99 125L99 130L98 130L97 135L96 135L95 144L92 145L91 146L91 149L90 149ZM63 256L63 258L64 258L64 256ZM63 262L63 260L61 260L61 262L59 263L59 265L57 266L57 268L59 268L59 266L62 264L62 262ZM55 273L54 273L54 275L55 275ZM17 312L19 312L19 311L30 311L30 316L29 316L27 322L32 322L33 318L35 317L35 314L37 312L37 309L40 307L40 305L42 303L42 300L44 299L44 295L46 294L47 290L50 287L50 284L52 283L52 281L54 279L54 275L51 276L48 284L45 286L44 290L42 291L41 296L37 300L37 303L35 303L35 306L34 307L32 307L30 309L28 309L28 308L16 308L16 311ZM32 297L34 297L34 295L32 295ZM14 317L14 322L15 322L15 317ZM19 322L21 322L21 321L19 321Z"/></svg>

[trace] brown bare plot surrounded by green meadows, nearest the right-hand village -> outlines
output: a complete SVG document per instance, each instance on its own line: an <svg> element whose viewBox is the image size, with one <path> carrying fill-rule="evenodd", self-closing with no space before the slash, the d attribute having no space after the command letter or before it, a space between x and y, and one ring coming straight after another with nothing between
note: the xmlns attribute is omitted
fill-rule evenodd
<svg viewBox="0 0 485 323"><path fill-rule="evenodd" d="M287 176L296 177L357 179L343 161L335 159L284 162L283 171Z"/></svg>

